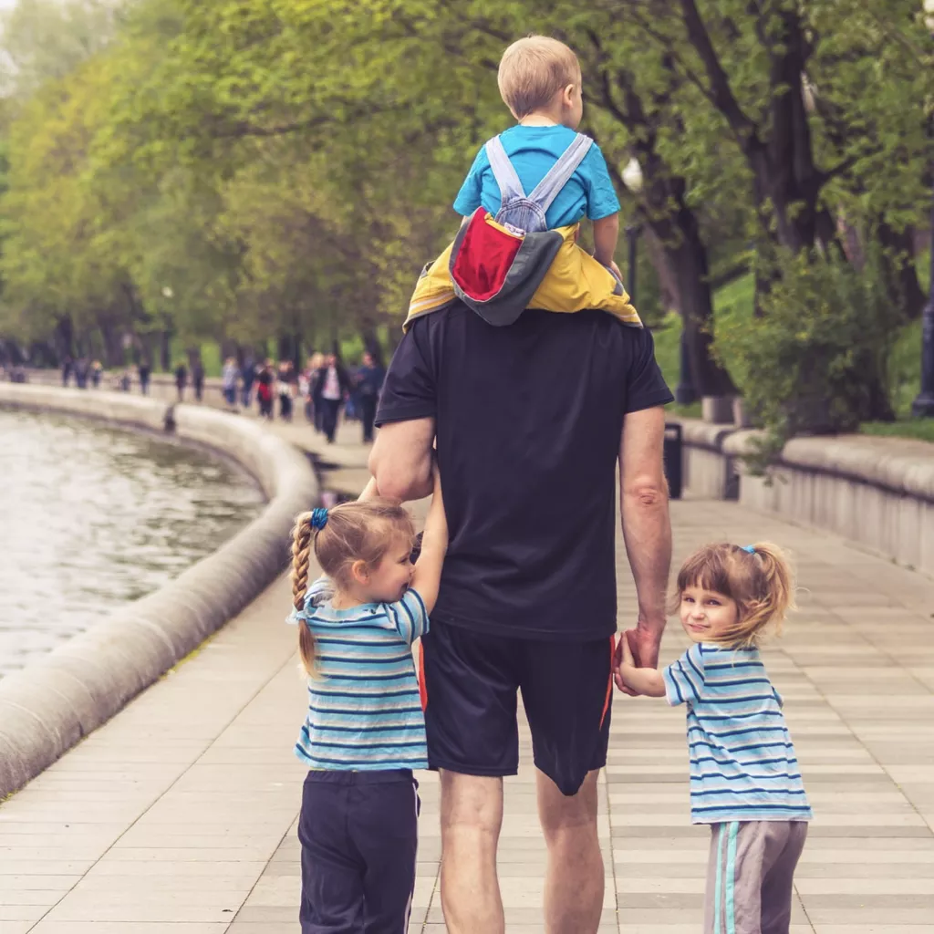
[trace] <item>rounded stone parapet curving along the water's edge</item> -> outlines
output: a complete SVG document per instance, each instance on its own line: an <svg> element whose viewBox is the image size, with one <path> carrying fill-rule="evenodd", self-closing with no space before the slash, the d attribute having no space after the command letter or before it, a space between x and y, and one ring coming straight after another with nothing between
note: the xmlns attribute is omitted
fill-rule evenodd
<svg viewBox="0 0 934 934"><path fill-rule="evenodd" d="M156 431L174 425L177 438L237 460L269 501L260 517L165 587L0 680L3 798L120 711L282 573L292 521L317 500L318 484L301 454L246 418L122 393L9 383L0 383L0 403Z"/></svg>

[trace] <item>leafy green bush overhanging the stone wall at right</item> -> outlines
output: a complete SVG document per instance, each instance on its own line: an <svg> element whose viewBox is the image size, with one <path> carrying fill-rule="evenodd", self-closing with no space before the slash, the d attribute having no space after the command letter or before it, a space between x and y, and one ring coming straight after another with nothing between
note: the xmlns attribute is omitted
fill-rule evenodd
<svg viewBox="0 0 934 934"><path fill-rule="evenodd" d="M869 252L862 270L836 256L785 253L758 315L718 316L715 355L766 429L754 468L796 434L892 417L886 364L902 321L878 251Z"/></svg>

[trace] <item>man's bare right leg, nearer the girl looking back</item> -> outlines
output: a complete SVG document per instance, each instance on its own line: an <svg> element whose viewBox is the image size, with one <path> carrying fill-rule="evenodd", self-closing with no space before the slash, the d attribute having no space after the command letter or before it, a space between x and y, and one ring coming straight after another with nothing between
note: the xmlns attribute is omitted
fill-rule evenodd
<svg viewBox="0 0 934 934"><path fill-rule="evenodd" d="M596 934L603 910L603 857L597 837L597 776L587 778L576 795L537 771L538 814L548 847L545 873L547 934Z"/></svg>

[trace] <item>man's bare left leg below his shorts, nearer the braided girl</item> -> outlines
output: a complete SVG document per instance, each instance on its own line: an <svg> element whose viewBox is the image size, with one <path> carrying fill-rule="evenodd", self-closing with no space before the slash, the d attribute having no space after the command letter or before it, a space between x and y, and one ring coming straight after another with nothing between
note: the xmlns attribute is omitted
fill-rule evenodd
<svg viewBox="0 0 934 934"><path fill-rule="evenodd" d="M502 778L441 771L441 907L449 934L503 934ZM602 883L601 875L601 883Z"/></svg>

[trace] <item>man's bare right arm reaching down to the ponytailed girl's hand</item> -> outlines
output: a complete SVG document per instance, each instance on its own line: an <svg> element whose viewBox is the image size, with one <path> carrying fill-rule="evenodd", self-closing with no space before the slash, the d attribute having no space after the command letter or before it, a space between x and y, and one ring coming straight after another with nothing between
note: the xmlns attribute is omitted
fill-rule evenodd
<svg viewBox="0 0 934 934"><path fill-rule="evenodd" d="M630 634L636 664L658 665L665 629L665 599L672 564L672 524L663 467L665 411L658 405L630 412L619 448L619 505L623 539L639 601L639 621ZM617 685L625 689L618 680Z"/></svg>

